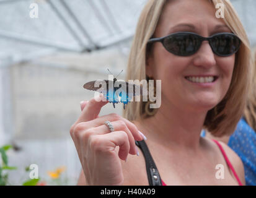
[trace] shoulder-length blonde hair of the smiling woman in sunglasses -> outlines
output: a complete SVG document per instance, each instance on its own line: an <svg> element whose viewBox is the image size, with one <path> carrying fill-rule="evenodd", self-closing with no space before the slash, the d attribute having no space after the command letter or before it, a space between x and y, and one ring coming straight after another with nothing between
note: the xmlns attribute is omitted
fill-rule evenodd
<svg viewBox="0 0 256 198"><path fill-rule="evenodd" d="M210 0L214 7L218 3L224 4L224 22L242 41L236 53L236 61L232 75L231 85L223 100L213 109L209 110L203 129L210 131L213 136L232 134L236 124L244 112L247 91L251 82L250 68L252 65L250 45L244 27L234 10L231 2L227 0ZM138 20L135 37L128 59L126 80L146 79L147 42L156 30L157 23L168 0L149 0L144 6ZM129 120L144 119L143 101L131 103L123 116Z"/></svg>

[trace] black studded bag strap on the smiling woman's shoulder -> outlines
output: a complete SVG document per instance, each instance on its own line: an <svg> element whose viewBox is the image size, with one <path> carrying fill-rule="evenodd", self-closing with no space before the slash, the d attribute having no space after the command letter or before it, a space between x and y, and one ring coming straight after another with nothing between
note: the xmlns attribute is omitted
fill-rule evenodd
<svg viewBox="0 0 256 198"><path fill-rule="evenodd" d="M142 150L146 161L146 170L148 174L149 186L162 186L160 174L156 168L156 164L154 163L154 160L149 152L146 142L142 140L135 141L135 143L139 147L139 149Z"/></svg>

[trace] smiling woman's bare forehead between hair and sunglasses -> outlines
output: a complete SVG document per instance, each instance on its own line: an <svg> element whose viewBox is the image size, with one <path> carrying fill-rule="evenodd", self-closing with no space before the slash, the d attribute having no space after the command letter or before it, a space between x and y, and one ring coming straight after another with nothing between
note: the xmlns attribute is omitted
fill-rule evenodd
<svg viewBox="0 0 256 198"><path fill-rule="evenodd" d="M226 27L226 30L229 30L224 20L216 17L217 11L218 9L209 0L169 0L162 11L157 32L166 34L182 28L212 32L216 27Z"/></svg>

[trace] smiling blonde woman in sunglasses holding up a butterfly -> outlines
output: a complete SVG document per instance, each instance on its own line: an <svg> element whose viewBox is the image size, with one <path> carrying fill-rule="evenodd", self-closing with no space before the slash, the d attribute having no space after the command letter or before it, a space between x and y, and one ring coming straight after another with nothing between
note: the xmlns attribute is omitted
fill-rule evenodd
<svg viewBox="0 0 256 198"><path fill-rule="evenodd" d="M218 2L224 5L224 19L216 17ZM192 33L169 37L165 46L151 39L177 32ZM197 35L215 37L200 43ZM83 170L79 184L245 184L236 153L200 137L200 132L208 129L222 136L234 131L245 106L250 67L249 41L229 1L149 0L137 25L127 79L162 80L161 106L152 112L145 109L148 103L133 102L122 118L99 117L107 103L97 102L100 98L82 103L81 116L70 130ZM115 131L110 132L105 121ZM139 142L146 143L150 153Z"/></svg>

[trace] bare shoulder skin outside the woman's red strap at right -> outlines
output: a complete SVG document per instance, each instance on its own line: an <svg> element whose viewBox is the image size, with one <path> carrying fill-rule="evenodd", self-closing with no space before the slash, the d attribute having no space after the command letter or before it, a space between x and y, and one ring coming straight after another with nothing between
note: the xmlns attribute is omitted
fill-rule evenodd
<svg viewBox="0 0 256 198"><path fill-rule="evenodd" d="M221 147L223 147L223 150L226 153L227 158L231 162L234 170L236 171L237 176L241 180L241 183L245 185L244 165L242 163L241 158L227 144L220 140L218 140L218 142L221 145Z"/></svg>

